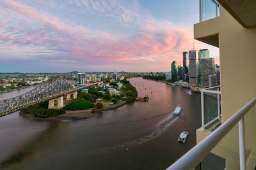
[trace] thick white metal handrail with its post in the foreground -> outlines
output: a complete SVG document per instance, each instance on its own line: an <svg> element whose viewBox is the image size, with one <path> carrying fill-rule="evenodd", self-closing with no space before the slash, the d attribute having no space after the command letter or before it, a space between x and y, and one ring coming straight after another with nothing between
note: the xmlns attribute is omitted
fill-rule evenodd
<svg viewBox="0 0 256 170"><path fill-rule="evenodd" d="M206 155L211 152L212 148L216 146L221 139L223 139L227 133L239 122L239 155L240 155L240 169L246 169L245 165L245 146L244 146L244 115L256 104L256 97L250 102L245 104L243 108L237 111L232 117L230 117L224 124L218 129L212 132L198 145L194 146L189 152L180 157L179 160L174 162L172 166L168 167L168 170L177 169L191 169L200 163Z"/></svg>

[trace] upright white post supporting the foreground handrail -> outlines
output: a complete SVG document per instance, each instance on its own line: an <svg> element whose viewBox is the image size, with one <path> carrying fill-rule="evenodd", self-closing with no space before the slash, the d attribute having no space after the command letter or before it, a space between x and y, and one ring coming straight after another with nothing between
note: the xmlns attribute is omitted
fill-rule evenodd
<svg viewBox="0 0 256 170"><path fill-rule="evenodd" d="M244 118L241 118L241 120L239 120L238 126L239 126L240 170L245 170L246 162L245 162L245 144L244 144Z"/></svg>

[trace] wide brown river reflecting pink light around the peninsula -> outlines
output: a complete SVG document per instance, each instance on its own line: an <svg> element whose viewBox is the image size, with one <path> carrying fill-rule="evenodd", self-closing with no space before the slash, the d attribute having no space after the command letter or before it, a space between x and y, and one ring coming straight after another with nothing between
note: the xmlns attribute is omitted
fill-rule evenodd
<svg viewBox="0 0 256 170"><path fill-rule="evenodd" d="M19 111L0 118L3 169L166 169L196 145L200 94L159 81L130 78L148 102L125 104L70 122L30 120ZM0 99L31 89L0 94ZM152 91L152 93L151 93ZM184 113L173 117L180 105ZM186 143L178 143L188 131Z"/></svg>

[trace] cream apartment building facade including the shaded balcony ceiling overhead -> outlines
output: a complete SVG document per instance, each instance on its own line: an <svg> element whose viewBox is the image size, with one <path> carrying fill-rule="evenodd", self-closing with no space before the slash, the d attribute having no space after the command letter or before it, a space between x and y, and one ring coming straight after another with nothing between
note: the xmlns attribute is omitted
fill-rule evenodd
<svg viewBox="0 0 256 170"><path fill-rule="evenodd" d="M228 0L221 0L218 2L220 3L220 16L195 24L194 38L220 48L220 127L223 127L229 118L256 96L256 1L234 0L231 3ZM255 106L246 111L243 119L245 136L240 138L244 139L244 162L247 169L255 169L255 115ZM225 159L227 170L240 169L240 132L236 124L211 150L211 153ZM210 134L211 132L204 131L202 128L197 129L196 143L200 143Z"/></svg>

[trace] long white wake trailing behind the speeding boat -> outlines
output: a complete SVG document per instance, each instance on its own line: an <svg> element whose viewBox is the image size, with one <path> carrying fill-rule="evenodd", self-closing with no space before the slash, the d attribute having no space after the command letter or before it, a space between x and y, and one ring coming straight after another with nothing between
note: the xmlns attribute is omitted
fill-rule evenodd
<svg viewBox="0 0 256 170"><path fill-rule="evenodd" d="M122 143L121 145L112 146L111 148L102 148L99 152L104 153L104 152L109 152L111 150L116 150L116 149L124 150L125 148L141 145L147 141L155 139L157 138L157 136L160 136L161 134L163 134L163 132L167 131L168 127L170 127L174 122L179 120L179 118L182 117L182 115L184 115L183 112L180 113L179 116L175 116L173 115L173 113L169 113L167 117L161 119L159 122L157 122L154 125L153 130L150 134L143 136L142 138L137 138L132 141Z"/></svg>

